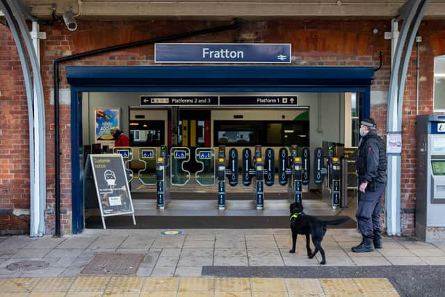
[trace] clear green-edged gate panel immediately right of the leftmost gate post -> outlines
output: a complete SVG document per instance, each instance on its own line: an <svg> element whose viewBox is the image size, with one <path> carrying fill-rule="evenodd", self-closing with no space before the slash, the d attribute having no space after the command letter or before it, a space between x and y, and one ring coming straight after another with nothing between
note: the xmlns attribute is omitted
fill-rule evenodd
<svg viewBox="0 0 445 297"><path fill-rule="evenodd" d="M170 184L184 186L190 180L190 171L184 170L184 163L190 161L188 147L172 147L170 150Z"/></svg>

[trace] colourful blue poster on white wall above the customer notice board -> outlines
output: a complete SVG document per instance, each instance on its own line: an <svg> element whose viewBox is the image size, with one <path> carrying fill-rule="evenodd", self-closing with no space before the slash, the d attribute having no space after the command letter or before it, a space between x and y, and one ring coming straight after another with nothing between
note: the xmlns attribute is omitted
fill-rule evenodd
<svg viewBox="0 0 445 297"><path fill-rule="evenodd" d="M95 109L95 124L95 143L113 141L110 129L120 129L120 108Z"/></svg>

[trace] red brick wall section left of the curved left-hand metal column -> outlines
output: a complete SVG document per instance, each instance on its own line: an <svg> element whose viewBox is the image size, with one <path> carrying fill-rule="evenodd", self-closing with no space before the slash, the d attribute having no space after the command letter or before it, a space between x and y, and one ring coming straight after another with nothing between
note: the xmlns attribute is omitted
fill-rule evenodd
<svg viewBox="0 0 445 297"><path fill-rule="evenodd" d="M29 232L29 122L22 67L9 29L0 24L0 234Z"/></svg>

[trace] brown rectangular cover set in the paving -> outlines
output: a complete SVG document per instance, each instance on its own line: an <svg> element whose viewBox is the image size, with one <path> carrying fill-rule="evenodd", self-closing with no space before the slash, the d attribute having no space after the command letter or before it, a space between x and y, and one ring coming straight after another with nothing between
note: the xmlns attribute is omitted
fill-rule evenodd
<svg viewBox="0 0 445 297"><path fill-rule="evenodd" d="M95 255L82 274L131 275L136 274L143 254L118 254L104 252Z"/></svg>

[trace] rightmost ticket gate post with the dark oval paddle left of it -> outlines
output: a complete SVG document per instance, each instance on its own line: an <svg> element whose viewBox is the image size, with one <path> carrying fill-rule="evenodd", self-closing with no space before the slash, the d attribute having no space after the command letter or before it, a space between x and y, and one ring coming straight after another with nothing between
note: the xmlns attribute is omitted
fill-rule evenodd
<svg viewBox="0 0 445 297"><path fill-rule="evenodd" d="M314 183L323 184L323 180L327 176L327 167L325 166L325 157L323 149L317 147L314 152ZM340 177L341 165L337 156L332 156L330 159L330 172L332 174L332 184L330 184L332 195L332 209L340 207Z"/></svg>

